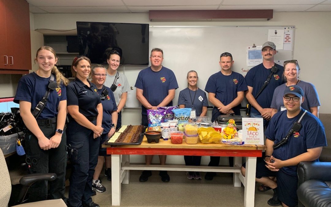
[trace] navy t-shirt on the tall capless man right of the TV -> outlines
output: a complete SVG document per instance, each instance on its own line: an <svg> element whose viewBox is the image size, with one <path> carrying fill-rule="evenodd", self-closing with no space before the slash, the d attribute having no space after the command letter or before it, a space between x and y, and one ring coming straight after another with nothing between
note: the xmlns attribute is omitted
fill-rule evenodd
<svg viewBox="0 0 331 207"><path fill-rule="evenodd" d="M168 90L178 88L175 74L163 66L158 72L152 71L151 67L140 71L134 86L143 90L143 96L152 106L159 105L168 95ZM172 106L172 101L166 106ZM147 115L143 105L141 109L141 114Z"/></svg>

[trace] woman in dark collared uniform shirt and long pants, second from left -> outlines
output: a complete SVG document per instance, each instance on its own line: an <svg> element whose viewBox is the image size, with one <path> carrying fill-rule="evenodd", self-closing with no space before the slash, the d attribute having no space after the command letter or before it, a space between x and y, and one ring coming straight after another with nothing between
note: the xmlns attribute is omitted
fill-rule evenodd
<svg viewBox="0 0 331 207"><path fill-rule="evenodd" d="M76 57L71 65L75 79L67 86L67 144L71 158L68 206L99 205L92 201L92 179L98 162L100 136L103 133L103 108L97 87L88 80L91 61Z"/></svg>

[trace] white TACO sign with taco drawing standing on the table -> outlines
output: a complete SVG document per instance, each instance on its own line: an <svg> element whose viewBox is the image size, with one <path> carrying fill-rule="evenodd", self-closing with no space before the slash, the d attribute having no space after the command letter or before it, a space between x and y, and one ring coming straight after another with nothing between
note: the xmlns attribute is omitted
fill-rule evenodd
<svg viewBox="0 0 331 207"><path fill-rule="evenodd" d="M242 118L242 124L245 144L264 145L262 118Z"/></svg>

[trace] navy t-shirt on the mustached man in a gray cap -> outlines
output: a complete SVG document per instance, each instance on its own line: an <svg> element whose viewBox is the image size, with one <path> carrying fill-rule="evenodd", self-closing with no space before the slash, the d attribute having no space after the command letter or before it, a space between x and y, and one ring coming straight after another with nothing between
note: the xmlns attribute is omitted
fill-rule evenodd
<svg viewBox="0 0 331 207"><path fill-rule="evenodd" d="M258 104L264 108L270 108L272 95L275 88L284 83L282 75L284 73L284 67L275 63L275 66L278 68L278 71L271 76L269 84L264 88L259 97L257 98ZM246 76L245 80L248 86L253 87L253 96L255 97L260 91L263 83L266 81L270 75L271 68L265 68L263 63L251 68ZM259 113L253 106L251 108L253 113Z"/></svg>

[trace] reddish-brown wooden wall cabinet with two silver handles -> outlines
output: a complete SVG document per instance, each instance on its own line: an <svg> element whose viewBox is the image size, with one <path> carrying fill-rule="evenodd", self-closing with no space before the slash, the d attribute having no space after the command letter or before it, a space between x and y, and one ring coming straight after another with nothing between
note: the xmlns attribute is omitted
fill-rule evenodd
<svg viewBox="0 0 331 207"><path fill-rule="evenodd" d="M25 0L0 0L0 28L0 74L29 73L29 4Z"/></svg>

